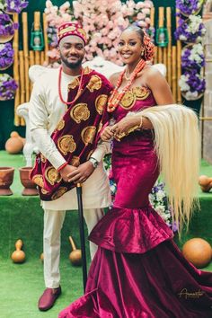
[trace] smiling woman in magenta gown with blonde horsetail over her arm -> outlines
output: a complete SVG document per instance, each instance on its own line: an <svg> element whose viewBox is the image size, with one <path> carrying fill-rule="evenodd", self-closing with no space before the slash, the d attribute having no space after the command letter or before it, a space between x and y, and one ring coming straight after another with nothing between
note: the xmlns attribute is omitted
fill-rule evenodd
<svg viewBox="0 0 212 318"><path fill-rule="evenodd" d="M153 50L139 27L121 34L119 54L126 69L111 77L115 89L108 105L116 124L102 131L102 140L114 137L112 172L118 190L113 208L90 234L99 248L86 293L60 318L212 316L212 274L183 258L172 231L148 200L163 172L173 218L180 225L189 221L199 163L198 122L192 110L151 107L173 102L163 76L146 64Z"/></svg>

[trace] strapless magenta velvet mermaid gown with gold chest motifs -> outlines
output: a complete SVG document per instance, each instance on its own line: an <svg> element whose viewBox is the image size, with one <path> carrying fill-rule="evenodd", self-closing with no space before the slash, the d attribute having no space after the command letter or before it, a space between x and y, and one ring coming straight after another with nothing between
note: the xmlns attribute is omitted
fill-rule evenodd
<svg viewBox="0 0 212 318"><path fill-rule="evenodd" d="M115 119L155 105L150 91L132 93ZM212 273L185 260L172 231L149 204L159 173L152 132L114 141L112 170L118 190L113 208L89 237L99 248L85 295L59 318L211 318Z"/></svg>

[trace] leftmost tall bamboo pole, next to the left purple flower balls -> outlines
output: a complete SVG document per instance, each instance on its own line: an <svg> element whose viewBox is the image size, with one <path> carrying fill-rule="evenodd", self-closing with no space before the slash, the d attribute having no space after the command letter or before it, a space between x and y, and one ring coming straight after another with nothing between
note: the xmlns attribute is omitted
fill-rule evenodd
<svg viewBox="0 0 212 318"><path fill-rule="evenodd" d="M13 13L13 22L18 23L18 13ZM18 84L18 88L14 95L14 125L20 126L21 118L17 115L16 110L20 105L20 83L19 83L19 55L18 55L18 42L19 42L19 32L14 31L13 36L13 50L14 50L14 62L13 62L13 78Z"/></svg>

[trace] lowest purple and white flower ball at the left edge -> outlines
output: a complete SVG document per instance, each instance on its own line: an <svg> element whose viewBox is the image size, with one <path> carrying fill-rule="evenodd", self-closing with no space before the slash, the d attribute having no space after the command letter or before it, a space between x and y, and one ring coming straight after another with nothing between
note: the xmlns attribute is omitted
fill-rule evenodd
<svg viewBox="0 0 212 318"><path fill-rule="evenodd" d="M13 77L8 74L0 74L0 101L12 100L18 85Z"/></svg>

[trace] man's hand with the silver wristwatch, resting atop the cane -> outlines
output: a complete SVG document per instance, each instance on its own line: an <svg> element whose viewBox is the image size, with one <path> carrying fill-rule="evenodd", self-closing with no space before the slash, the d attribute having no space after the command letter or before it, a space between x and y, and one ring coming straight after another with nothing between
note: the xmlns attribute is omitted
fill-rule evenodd
<svg viewBox="0 0 212 318"><path fill-rule="evenodd" d="M67 175L68 182L83 183L93 173L95 168L90 161L80 164L73 172Z"/></svg>

